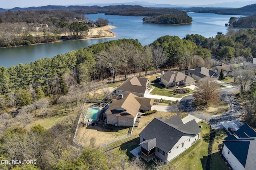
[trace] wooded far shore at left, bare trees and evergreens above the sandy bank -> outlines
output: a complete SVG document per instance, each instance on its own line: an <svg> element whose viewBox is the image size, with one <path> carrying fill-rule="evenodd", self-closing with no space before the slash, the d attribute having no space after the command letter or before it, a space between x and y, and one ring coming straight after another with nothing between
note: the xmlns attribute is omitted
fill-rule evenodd
<svg viewBox="0 0 256 170"><path fill-rule="evenodd" d="M102 27L109 21L88 21L84 15L68 10L0 12L0 47L83 39L92 23Z"/></svg>

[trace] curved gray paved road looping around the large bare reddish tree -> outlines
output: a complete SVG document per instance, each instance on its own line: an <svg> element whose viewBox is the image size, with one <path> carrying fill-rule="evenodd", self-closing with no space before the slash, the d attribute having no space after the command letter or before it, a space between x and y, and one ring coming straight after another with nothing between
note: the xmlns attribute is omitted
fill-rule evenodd
<svg viewBox="0 0 256 170"><path fill-rule="evenodd" d="M194 115L195 117L198 117L203 120L210 121L211 124L216 124L220 121L231 121L237 119L242 114L242 109L238 102L232 98L232 93L237 91L238 88L224 88L221 89L221 99L228 103L229 110L227 113L223 115L209 115L204 114L200 111L197 111L194 109L191 104L194 101L194 98L192 95L185 96L180 100L179 109L181 111L187 112L188 114Z"/></svg>

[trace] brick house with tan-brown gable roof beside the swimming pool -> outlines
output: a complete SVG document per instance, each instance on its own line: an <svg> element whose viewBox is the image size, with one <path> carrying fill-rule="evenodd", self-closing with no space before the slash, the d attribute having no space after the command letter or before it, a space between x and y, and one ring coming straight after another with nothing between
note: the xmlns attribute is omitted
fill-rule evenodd
<svg viewBox="0 0 256 170"><path fill-rule="evenodd" d="M140 110L151 110L154 99L140 98L132 93L119 94L108 104L106 110L107 124L132 127ZM137 120L138 121L138 120Z"/></svg>

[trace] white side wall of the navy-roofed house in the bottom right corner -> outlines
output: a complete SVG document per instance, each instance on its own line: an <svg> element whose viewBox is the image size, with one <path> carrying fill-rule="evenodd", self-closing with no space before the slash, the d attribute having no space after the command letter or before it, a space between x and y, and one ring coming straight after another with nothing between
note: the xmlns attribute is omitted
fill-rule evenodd
<svg viewBox="0 0 256 170"><path fill-rule="evenodd" d="M233 168L233 170L245 170L244 166L237 160L236 156L234 156L232 152L229 152L228 154L228 148L226 145L223 147L222 154Z"/></svg>

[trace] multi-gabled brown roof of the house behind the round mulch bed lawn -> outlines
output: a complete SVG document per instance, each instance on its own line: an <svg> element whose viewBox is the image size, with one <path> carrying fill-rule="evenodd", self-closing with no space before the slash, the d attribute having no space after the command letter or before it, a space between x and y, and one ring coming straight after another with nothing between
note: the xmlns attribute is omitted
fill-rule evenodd
<svg viewBox="0 0 256 170"><path fill-rule="evenodd" d="M183 74L182 72L172 72L168 70L164 73L164 75L161 77L161 79L164 79L165 81L172 83L172 82L195 82L194 78L191 78L190 76L187 76L186 74Z"/></svg>

